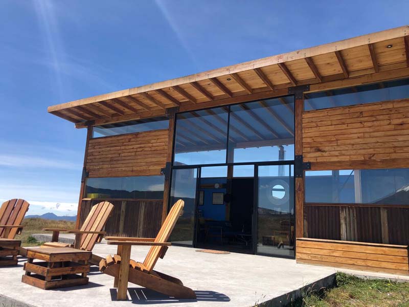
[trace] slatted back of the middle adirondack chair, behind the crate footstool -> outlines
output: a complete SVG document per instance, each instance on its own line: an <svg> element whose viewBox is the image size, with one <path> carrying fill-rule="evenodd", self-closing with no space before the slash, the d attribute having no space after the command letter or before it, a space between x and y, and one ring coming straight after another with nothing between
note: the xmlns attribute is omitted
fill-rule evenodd
<svg viewBox="0 0 409 307"><path fill-rule="evenodd" d="M101 202L94 205L89 211L84 224L82 224L82 231L102 231L108 221L109 215L113 210L113 205L109 202ZM80 249L92 251L94 245L97 243L98 234L84 233L81 236Z"/></svg>

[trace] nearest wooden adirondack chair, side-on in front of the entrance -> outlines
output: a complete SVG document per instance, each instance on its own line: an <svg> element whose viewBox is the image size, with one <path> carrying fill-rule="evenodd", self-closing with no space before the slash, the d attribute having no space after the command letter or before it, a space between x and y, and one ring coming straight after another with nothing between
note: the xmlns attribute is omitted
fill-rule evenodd
<svg viewBox="0 0 409 307"><path fill-rule="evenodd" d="M115 277L113 286L118 287L118 300L127 299L128 281L175 298L196 298L193 290L185 287L179 279L153 271L156 261L165 256L171 245L167 240L184 205L183 200L178 200L172 206L156 238L105 238L108 244L118 245L118 255L108 255L101 260L99 267L101 272ZM130 259L132 245L152 246L143 263Z"/></svg>

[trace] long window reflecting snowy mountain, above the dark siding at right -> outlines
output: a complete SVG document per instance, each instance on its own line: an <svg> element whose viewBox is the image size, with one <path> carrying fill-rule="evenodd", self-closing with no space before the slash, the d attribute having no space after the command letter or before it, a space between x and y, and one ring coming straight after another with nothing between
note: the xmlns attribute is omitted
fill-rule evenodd
<svg viewBox="0 0 409 307"><path fill-rule="evenodd" d="M306 171L305 201L409 205L409 168Z"/></svg>

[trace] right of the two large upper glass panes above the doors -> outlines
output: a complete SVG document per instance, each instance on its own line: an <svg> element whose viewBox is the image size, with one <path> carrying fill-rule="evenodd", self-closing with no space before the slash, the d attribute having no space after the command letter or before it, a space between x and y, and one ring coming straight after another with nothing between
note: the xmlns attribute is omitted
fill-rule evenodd
<svg viewBox="0 0 409 307"><path fill-rule="evenodd" d="M294 160L293 97L231 106L229 162Z"/></svg>

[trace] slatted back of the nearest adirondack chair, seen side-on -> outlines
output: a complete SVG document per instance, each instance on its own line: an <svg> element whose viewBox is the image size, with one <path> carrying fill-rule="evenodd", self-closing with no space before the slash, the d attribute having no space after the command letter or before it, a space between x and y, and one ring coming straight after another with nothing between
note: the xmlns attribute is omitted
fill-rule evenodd
<svg viewBox="0 0 409 307"><path fill-rule="evenodd" d="M179 218L180 213L185 206L185 202L183 200L178 200L170 209L168 216L166 217L165 222L163 223L161 229L157 233L157 236L154 242L167 242L170 234L172 233L173 228ZM152 246L146 255L144 260L144 267L146 270L151 272L156 264L157 259L162 255L162 250L164 247L162 246Z"/></svg>

